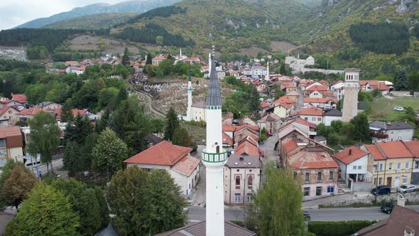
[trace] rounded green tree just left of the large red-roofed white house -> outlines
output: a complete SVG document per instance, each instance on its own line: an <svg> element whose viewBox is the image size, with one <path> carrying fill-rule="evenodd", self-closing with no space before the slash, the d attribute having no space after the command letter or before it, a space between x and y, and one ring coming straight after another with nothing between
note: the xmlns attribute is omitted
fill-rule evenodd
<svg viewBox="0 0 419 236"><path fill-rule="evenodd" d="M99 135L97 144L94 146L93 169L110 178L116 171L123 168L123 161L127 157L124 141L119 139L114 131L107 128Z"/></svg>

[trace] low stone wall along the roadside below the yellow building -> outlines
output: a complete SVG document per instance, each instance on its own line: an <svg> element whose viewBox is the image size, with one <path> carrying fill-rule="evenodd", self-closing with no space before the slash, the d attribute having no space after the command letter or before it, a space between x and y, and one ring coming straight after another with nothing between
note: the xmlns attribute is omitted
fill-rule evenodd
<svg viewBox="0 0 419 236"><path fill-rule="evenodd" d="M419 202L419 192L415 193L405 193L404 194L406 200L410 202ZM391 193L391 195L379 195L377 197L373 195L368 195L366 198L352 198L347 200L337 200L331 203L326 204L326 206L343 206L343 205L352 205L354 203L364 203L364 204L373 204L374 200L376 199L377 203L380 202L393 202L397 203L397 193Z"/></svg>

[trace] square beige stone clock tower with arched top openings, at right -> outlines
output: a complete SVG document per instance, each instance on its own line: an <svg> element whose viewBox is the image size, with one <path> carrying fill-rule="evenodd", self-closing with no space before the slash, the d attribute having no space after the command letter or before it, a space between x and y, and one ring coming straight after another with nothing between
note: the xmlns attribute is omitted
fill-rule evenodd
<svg viewBox="0 0 419 236"><path fill-rule="evenodd" d="M358 114L359 69L345 69L342 122L350 122Z"/></svg>

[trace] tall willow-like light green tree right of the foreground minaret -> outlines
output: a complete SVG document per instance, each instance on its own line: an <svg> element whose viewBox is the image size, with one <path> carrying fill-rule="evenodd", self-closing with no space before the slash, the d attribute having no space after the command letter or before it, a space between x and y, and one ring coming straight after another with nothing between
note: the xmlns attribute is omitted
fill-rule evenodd
<svg viewBox="0 0 419 236"><path fill-rule="evenodd" d="M262 236L305 235L302 203L300 178L269 164L266 183L254 195L254 204L249 204L246 224Z"/></svg>

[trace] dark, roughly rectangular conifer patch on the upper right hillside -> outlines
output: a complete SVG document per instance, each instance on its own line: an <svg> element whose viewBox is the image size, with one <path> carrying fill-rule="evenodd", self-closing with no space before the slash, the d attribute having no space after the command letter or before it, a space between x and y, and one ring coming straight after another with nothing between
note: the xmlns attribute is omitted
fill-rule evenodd
<svg viewBox="0 0 419 236"><path fill-rule="evenodd" d="M409 48L409 31L398 23L359 23L349 27L349 36L364 50L400 55Z"/></svg>

